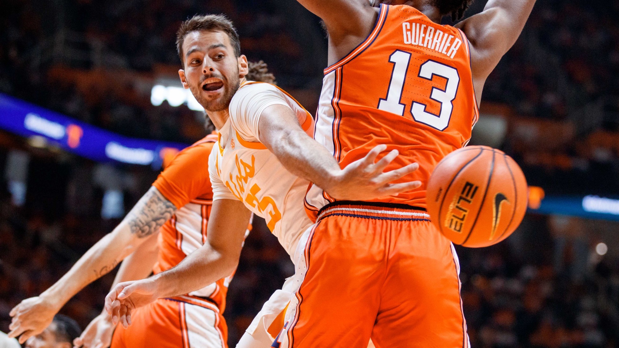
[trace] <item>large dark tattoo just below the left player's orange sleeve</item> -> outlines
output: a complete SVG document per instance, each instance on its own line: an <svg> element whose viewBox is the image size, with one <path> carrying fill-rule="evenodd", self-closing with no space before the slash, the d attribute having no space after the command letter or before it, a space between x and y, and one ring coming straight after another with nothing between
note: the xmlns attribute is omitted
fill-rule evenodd
<svg viewBox="0 0 619 348"><path fill-rule="evenodd" d="M148 237L162 227L175 211L174 204L152 187L127 215L131 233L136 233L139 238Z"/></svg>

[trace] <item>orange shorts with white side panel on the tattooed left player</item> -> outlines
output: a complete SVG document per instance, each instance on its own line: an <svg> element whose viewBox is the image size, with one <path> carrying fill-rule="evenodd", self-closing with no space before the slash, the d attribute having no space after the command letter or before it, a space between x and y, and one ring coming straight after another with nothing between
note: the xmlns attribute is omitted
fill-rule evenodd
<svg viewBox="0 0 619 348"><path fill-rule="evenodd" d="M228 347L223 316L201 298L160 298L134 311L131 322L127 329L116 326L111 348Z"/></svg>

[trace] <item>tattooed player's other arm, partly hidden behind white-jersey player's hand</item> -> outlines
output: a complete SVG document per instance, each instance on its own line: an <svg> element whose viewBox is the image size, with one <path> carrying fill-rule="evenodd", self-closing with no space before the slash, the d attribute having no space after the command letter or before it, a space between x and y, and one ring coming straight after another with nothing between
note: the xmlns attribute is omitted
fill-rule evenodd
<svg viewBox="0 0 619 348"><path fill-rule="evenodd" d="M159 250L157 237L157 233L150 235L136 251L123 260L111 286L112 289L118 283L137 281L150 275L154 264L157 262ZM115 328L110 315L103 310L100 315L90 321L80 337L74 339L73 345L84 348L110 347Z"/></svg>

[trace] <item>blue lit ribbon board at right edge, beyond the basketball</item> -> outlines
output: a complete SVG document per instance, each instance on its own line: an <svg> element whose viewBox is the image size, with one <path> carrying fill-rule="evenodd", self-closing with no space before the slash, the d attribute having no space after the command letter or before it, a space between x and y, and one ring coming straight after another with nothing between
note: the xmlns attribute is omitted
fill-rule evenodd
<svg viewBox="0 0 619 348"><path fill-rule="evenodd" d="M591 195L549 196L542 200L539 209L529 209L529 212L619 221L619 199Z"/></svg>

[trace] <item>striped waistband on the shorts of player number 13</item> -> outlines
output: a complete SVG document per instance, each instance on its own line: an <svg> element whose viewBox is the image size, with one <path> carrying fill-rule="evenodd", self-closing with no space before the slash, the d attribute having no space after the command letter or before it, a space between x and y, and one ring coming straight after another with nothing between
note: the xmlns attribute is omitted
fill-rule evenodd
<svg viewBox="0 0 619 348"><path fill-rule="evenodd" d="M334 215L378 220L430 221L430 215L421 207L382 202L335 201L320 209L316 222Z"/></svg>

